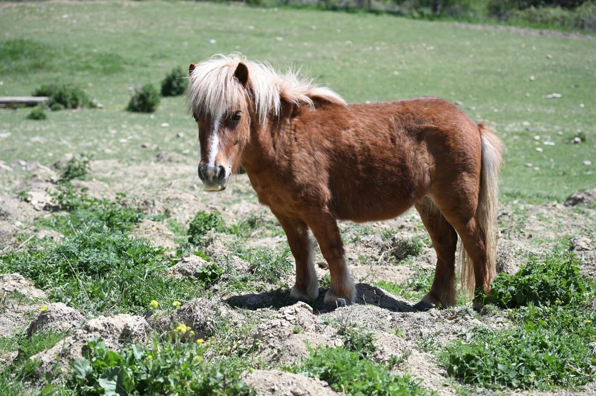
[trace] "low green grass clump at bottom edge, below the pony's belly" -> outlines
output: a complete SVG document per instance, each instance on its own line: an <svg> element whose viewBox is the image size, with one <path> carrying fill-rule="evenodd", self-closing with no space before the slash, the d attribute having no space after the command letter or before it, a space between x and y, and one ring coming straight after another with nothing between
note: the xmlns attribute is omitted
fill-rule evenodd
<svg viewBox="0 0 596 396"><path fill-rule="evenodd" d="M385 364L362 359L359 353L339 347L310 348L302 363L287 370L326 381L346 395L427 395L420 380L400 376Z"/></svg>

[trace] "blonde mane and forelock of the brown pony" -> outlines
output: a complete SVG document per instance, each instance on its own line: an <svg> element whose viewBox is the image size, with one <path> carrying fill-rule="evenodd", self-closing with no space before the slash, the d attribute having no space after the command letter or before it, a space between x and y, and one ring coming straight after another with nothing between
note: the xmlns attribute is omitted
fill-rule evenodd
<svg viewBox="0 0 596 396"><path fill-rule="evenodd" d="M245 89L234 71L242 62L249 70ZM299 71L288 68L280 74L266 62L249 61L239 54L213 55L197 64L188 84L189 109L219 118L228 111L246 109L247 93L252 93L259 122L268 114L280 114L281 100L296 105L314 106L313 99L346 105L341 96L327 87L299 77Z"/></svg>

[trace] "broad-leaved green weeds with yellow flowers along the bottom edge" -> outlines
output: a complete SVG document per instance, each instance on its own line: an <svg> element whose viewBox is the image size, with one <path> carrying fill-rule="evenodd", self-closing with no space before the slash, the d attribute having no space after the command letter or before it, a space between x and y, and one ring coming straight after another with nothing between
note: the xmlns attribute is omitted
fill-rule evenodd
<svg viewBox="0 0 596 396"><path fill-rule="evenodd" d="M176 336L174 340L154 340L151 347L134 344L116 353L104 341L91 339L85 357L70 365L70 378L63 390L89 396L255 394L234 367L210 366L203 359L209 343L180 342ZM59 392L54 386L46 388Z"/></svg>

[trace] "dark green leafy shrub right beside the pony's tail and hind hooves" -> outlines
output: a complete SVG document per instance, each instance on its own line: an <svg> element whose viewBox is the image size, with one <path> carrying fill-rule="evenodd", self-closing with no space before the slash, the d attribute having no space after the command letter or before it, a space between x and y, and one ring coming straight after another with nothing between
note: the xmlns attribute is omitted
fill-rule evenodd
<svg viewBox="0 0 596 396"><path fill-rule="evenodd" d="M476 297L483 304L501 308L514 308L529 303L537 306L554 304L582 304L593 284L579 272L575 256L554 258L541 262L534 258L523 265L515 275L504 272L492 282L491 293L486 296L477 291Z"/></svg>

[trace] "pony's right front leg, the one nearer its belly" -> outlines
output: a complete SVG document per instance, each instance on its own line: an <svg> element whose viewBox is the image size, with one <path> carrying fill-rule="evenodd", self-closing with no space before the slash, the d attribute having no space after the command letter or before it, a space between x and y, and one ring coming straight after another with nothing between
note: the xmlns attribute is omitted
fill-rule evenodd
<svg viewBox="0 0 596 396"><path fill-rule="evenodd" d="M331 288L325 294L325 304L336 307L353 303L356 301L356 287L347 269L342 236L336 219L327 213L320 213L306 219L306 222L329 265Z"/></svg>

